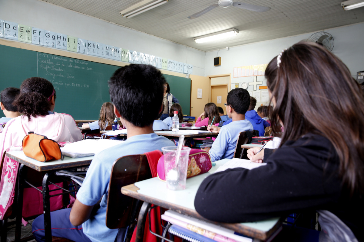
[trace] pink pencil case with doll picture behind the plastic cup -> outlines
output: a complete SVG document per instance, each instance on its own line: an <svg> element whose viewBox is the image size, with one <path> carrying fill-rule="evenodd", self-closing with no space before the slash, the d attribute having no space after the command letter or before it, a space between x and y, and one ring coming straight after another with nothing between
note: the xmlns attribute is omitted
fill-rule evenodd
<svg viewBox="0 0 364 242"><path fill-rule="evenodd" d="M187 178L208 172L212 167L211 157L208 152L200 149L191 149L188 157ZM166 180L164 171L164 156L158 160L157 175L162 181Z"/></svg>

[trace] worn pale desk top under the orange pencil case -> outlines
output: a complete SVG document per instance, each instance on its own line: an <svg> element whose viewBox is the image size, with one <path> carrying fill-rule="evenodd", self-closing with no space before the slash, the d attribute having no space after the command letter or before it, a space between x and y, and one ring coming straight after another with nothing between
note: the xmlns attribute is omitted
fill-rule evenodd
<svg viewBox="0 0 364 242"><path fill-rule="evenodd" d="M81 158L70 158L65 156L63 161L56 160L56 161L40 162L34 160L33 158L25 156L23 150L6 152L6 155L12 158L13 160L21 164L24 164L38 172L67 169L78 166L87 166L91 164L92 158L94 158L94 156L87 156Z"/></svg>

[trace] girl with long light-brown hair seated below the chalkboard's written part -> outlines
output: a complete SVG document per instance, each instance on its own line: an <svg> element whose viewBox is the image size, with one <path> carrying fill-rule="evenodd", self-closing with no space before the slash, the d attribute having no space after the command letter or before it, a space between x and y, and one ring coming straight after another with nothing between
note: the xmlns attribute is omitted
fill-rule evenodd
<svg viewBox="0 0 364 242"><path fill-rule="evenodd" d="M99 129L99 130L105 130L107 125L112 125L114 123L114 105L112 105L111 102L104 102L104 104L101 106L100 109L100 117L99 120L89 123L89 124L83 124L83 129Z"/></svg>

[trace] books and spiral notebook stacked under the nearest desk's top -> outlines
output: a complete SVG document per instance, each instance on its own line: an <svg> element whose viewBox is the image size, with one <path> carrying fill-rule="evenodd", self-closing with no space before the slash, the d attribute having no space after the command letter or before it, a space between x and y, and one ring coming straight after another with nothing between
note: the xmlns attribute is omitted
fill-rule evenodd
<svg viewBox="0 0 364 242"><path fill-rule="evenodd" d="M219 225L167 210L162 219L172 224L168 232L191 242L252 242L252 238Z"/></svg>

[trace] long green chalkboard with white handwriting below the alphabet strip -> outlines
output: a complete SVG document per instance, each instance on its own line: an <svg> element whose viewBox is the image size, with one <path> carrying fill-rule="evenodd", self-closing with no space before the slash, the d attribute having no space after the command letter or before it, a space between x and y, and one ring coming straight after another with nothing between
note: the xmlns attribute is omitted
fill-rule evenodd
<svg viewBox="0 0 364 242"><path fill-rule="evenodd" d="M110 101L107 81L120 66L57 56L0 45L0 90L19 87L29 77L43 77L56 90L55 112L75 120L97 120L104 102ZM189 114L191 81L164 74L184 114Z"/></svg>

